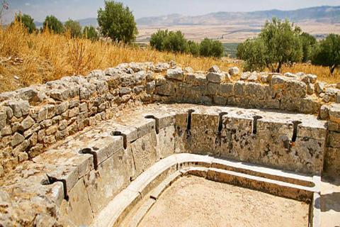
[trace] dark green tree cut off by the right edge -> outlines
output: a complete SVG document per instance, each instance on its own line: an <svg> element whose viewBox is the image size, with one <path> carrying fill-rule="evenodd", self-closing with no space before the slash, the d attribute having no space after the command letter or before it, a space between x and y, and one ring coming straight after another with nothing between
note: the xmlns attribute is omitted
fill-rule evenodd
<svg viewBox="0 0 340 227"><path fill-rule="evenodd" d="M329 34L318 45L314 45L312 63L329 67L333 74L335 68L340 65L340 35Z"/></svg>

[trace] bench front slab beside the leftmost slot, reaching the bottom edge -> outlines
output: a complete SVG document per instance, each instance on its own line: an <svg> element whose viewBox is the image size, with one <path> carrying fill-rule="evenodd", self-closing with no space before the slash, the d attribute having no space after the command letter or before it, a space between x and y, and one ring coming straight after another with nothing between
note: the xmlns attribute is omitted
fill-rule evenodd
<svg viewBox="0 0 340 227"><path fill-rule="evenodd" d="M69 192L69 200L62 201L60 214L62 220L67 219L74 226L88 226L93 221L94 215L83 179L80 179Z"/></svg>

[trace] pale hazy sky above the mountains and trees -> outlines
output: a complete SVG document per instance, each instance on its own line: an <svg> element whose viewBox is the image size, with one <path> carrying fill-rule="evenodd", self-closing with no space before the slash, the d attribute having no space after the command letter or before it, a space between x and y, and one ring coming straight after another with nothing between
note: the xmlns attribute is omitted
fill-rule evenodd
<svg viewBox="0 0 340 227"><path fill-rule="evenodd" d="M2 2L3 0L1 0ZM13 21L14 13L21 10L35 21L43 21L45 16L54 15L61 21L68 18L82 19L96 17L103 7L102 0L6 0L8 11L4 12L4 23ZM292 10L312 6L339 6L339 0L123 0L135 18L162 16L170 13L188 16L202 15L217 11L262 11L268 9Z"/></svg>

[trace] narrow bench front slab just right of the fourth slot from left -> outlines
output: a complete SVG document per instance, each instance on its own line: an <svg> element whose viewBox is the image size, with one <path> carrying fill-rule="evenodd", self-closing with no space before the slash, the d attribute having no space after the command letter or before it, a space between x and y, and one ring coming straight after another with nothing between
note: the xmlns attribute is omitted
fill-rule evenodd
<svg viewBox="0 0 340 227"><path fill-rule="evenodd" d="M169 155L173 155L175 152L175 141L174 141L175 127L166 126L159 130L157 134L157 146L156 152L157 157L163 159Z"/></svg>

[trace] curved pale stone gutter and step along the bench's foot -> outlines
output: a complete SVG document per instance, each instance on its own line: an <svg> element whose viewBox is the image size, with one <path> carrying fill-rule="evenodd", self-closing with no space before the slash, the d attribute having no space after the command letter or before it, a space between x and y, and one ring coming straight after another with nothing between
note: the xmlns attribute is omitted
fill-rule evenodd
<svg viewBox="0 0 340 227"><path fill-rule="evenodd" d="M225 170L231 166L234 170L238 168L239 170L249 170L248 174ZM256 175L259 175L259 172L271 174L258 177ZM277 175L278 173L280 175ZM160 194L162 194L172 182L183 175L196 175L217 182L257 189L290 199L312 201L311 206L313 207L314 203L317 202L315 200L320 190L320 177L317 176L304 176L304 181L299 182L295 181L295 179L298 179L300 175L295 175L292 172L280 172L259 166L254 166L254 170L251 170L251 166L241 162L232 163L229 160L220 160L203 155L176 154L160 160L143 172L140 177L137 177L127 189L124 189L123 192L118 194L118 196L101 211L92 226L137 226L154 202L157 201ZM285 179L285 181L278 179ZM297 182L305 185L306 182L308 182L309 184L307 185L310 185L310 187L289 182ZM311 221L314 219L317 220L319 217L319 209L312 209L310 216ZM315 218L313 219L312 217ZM318 226L317 223L314 223L314 226Z"/></svg>

